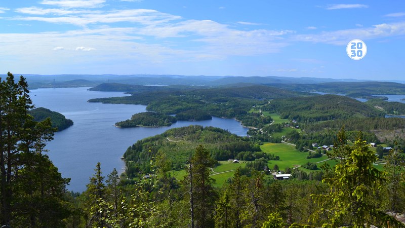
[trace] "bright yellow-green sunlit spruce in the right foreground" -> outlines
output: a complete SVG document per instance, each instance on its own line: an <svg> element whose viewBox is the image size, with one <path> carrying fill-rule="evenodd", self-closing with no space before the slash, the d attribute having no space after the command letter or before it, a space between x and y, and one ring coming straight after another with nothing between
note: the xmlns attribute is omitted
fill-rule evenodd
<svg viewBox="0 0 405 228"><path fill-rule="evenodd" d="M329 218L331 227L370 224L381 227L385 220L378 202L385 174L373 167L377 158L361 135L353 146L348 146L344 134L344 130L338 134L337 148L331 154L340 158L340 163L335 166L334 175L322 180L329 185L330 192L313 196L320 205L313 221L319 221L323 215Z"/></svg>

